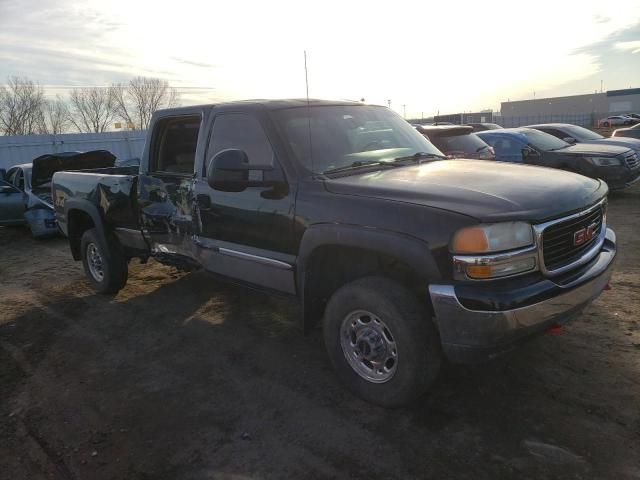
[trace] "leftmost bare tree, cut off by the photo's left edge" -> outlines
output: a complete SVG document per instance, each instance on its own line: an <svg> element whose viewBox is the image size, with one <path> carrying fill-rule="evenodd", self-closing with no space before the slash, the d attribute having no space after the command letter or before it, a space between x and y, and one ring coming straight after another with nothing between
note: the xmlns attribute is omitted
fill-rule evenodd
<svg viewBox="0 0 640 480"><path fill-rule="evenodd" d="M0 131L5 135L42 133L44 92L26 77L10 77L0 86Z"/></svg>

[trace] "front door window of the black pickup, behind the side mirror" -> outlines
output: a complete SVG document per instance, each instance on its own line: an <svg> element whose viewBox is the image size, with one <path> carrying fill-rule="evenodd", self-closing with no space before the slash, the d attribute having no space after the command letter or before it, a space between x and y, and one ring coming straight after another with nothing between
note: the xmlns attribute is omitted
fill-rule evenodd
<svg viewBox="0 0 640 480"><path fill-rule="evenodd" d="M224 113L216 117L207 148L207 162L216 153L227 148L244 150L250 165L274 165L275 163L269 139L258 119L252 115Z"/></svg>

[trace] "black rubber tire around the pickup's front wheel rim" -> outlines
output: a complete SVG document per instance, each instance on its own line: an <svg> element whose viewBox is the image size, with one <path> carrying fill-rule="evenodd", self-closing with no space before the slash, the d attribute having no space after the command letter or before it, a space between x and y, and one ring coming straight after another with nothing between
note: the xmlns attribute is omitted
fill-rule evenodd
<svg viewBox="0 0 640 480"><path fill-rule="evenodd" d="M359 315L355 313L358 311L370 312L374 318L377 317L378 323L381 321L385 328L388 327L393 345L397 346L397 351L393 349L397 354L395 372L384 382L374 383L366 379L355 368L366 370L367 365L354 368L347 360L341 342L343 334L345 342L356 345L352 347L356 350L359 343L354 339L361 337L347 334L343 325L347 329L358 322L362 325L361 319L351 323L353 315ZM424 394L438 376L442 360L438 331L423 305L409 290L393 280L365 277L338 289L325 310L323 329L327 353L338 377L356 395L370 403L383 407L407 405ZM384 363L385 368L386 365Z"/></svg>

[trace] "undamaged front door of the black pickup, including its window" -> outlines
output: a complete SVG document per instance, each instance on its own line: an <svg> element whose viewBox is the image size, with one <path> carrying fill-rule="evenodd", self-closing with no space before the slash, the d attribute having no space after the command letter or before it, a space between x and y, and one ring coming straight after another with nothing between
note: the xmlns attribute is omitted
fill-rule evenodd
<svg viewBox="0 0 640 480"><path fill-rule="evenodd" d="M221 112L213 119L194 192L195 251L207 270L261 287L295 292L294 194L258 112ZM249 185L214 190L207 169L217 153L247 154ZM260 166L260 169L252 167Z"/></svg>

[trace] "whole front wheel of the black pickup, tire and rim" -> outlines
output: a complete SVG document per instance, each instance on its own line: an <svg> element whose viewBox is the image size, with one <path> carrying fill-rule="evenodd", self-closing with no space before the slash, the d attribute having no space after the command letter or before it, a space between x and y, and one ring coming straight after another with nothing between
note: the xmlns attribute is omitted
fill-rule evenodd
<svg viewBox="0 0 640 480"><path fill-rule="evenodd" d="M337 375L368 402L406 405L440 370L435 325L415 296L393 280L366 277L341 287L329 300L323 328Z"/></svg>

